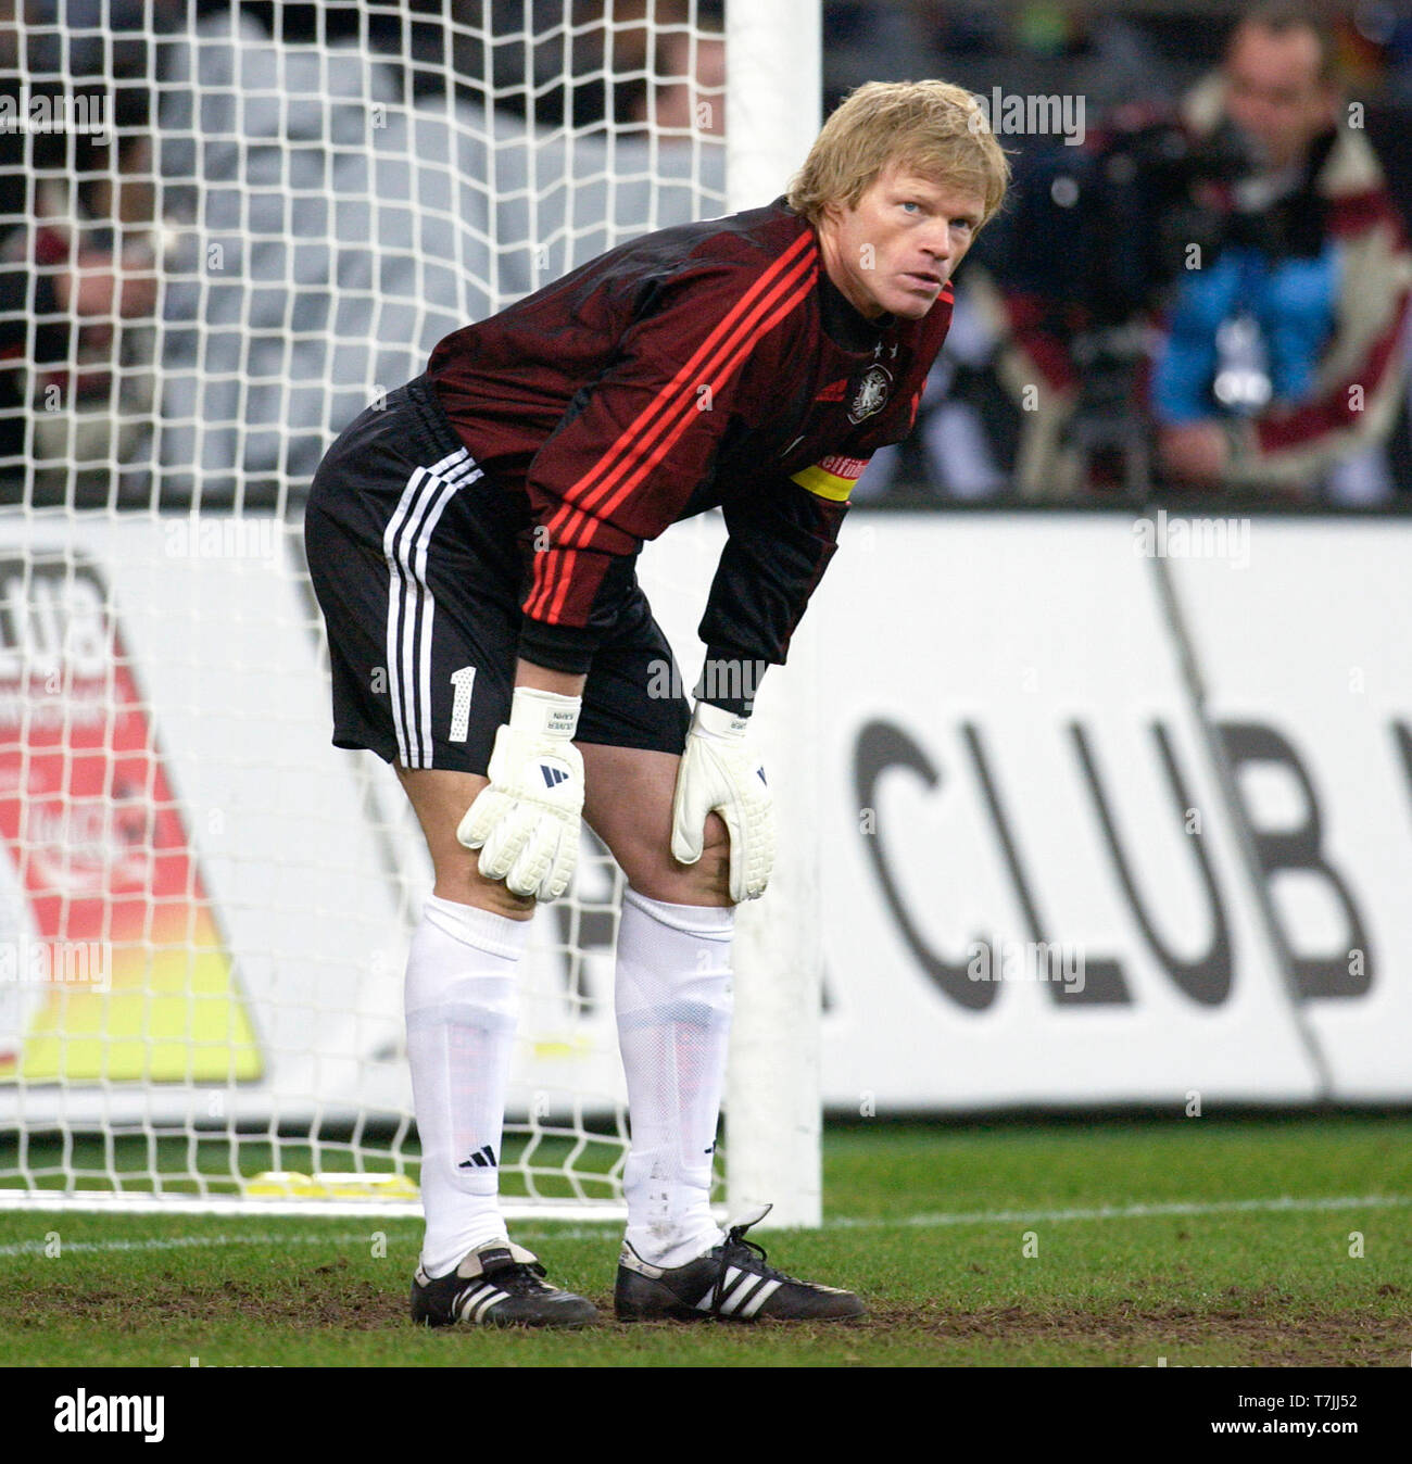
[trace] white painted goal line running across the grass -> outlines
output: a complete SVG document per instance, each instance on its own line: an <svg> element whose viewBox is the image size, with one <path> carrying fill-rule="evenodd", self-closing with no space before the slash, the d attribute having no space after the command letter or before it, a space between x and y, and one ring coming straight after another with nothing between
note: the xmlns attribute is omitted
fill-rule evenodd
<svg viewBox="0 0 1412 1464"><path fill-rule="evenodd" d="M901 1215L895 1220L882 1215L852 1217L836 1215L823 1222L825 1230L939 1230L948 1225L1018 1225L1043 1221L1058 1224L1084 1220L1160 1220L1162 1217L1241 1215L1279 1212L1318 1212L1334 1209L1405 1209L1412 1205L1412 1195L1327 1195L1296 1196L1282 1195L1276 1199L1229 1199L1229 1200L1163 1200L1151 1205L1103 1205L1094 1209L984 1209L939 1215ZM375 1217L369 1217L372 1220ZM388 1221L384 1221L388 1224ZM516 1234L542 1236L546 1240L601 1240L603 1230L614 1225L603 1221L598 1225L524 1224L516 1227ZM365 1246L368 1233L349 1236L167 1236L152 1240L72 1240L60 1241L62 1255L101 1255L122 1250L185 1250L189 1247L215 1246ZM0 1246L0 1259L10 1256L42 1256L42 1240L22 1240Z"/></svg>

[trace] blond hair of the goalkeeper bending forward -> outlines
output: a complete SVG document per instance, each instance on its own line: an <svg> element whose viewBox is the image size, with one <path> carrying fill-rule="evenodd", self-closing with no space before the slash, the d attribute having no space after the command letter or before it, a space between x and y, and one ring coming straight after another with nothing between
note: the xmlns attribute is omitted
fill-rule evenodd
<svg viewBox="0 0 1412 1464"><path fill-rule="evenodd" d="M1009 160L964 86L867 82L823 124L789 184L789 206L810 223L819 223L829 203L857 208L892 163L983 198L983 224L1000 206L1011 179Z"/></svg>

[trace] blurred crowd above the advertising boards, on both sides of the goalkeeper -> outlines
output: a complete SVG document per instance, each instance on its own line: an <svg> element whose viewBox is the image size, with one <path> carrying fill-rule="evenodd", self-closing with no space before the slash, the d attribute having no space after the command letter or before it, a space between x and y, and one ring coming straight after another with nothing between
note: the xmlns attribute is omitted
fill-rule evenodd
<svg viewBox="0 0 1412 1464"><path fill-rule="evenodd" d="M0 502L289 507L447 329L724 203L721 31L0 0L0 105L107 120L0 126ZM920 75L1015 186L857 498L1412 507L1412 0L826 0L826 107Z"/></svg>

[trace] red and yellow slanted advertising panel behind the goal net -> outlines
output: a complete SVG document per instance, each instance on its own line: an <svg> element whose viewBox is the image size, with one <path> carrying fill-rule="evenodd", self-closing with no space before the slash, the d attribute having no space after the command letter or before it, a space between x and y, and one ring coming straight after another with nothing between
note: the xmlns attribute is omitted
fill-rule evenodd
<svg viewBox="0 0 1412 1464"><path fill-rule="evenodd" d="M100 568L0 561L0 834L28 931L0 1082L258 1079L233 962ZM18 1041L16 1041L18 1037Z"/></svg>

